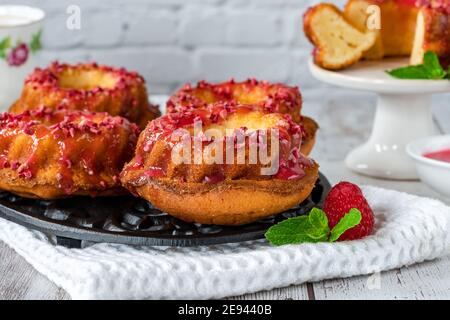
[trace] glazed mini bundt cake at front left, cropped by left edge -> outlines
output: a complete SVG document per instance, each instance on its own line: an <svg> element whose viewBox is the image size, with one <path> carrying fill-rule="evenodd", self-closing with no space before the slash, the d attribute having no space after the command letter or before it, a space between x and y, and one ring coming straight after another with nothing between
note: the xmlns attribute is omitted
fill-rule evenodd
<svg viewBox="0 0 450 320"><path fill-rule="evenodd" d="M41 107L0 114L0 189L28 198L126 193L139 128L107 113Z"/></svg>

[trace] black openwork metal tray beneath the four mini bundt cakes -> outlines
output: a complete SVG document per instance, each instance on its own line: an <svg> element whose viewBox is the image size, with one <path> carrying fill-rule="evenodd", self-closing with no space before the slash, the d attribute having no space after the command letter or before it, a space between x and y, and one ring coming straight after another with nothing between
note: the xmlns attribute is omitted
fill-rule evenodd
<svg viewBox="0 0 450 320"><path fill-rule="evenodd" d="M0 192L0 217L54 235L58 244L71 248L81 248L83 240L146 246L213 245L261 239L270 226L322 207L330 188L320 174L311 195L298 206L236 227L186 223L131 196L47 201Z"/></svg>

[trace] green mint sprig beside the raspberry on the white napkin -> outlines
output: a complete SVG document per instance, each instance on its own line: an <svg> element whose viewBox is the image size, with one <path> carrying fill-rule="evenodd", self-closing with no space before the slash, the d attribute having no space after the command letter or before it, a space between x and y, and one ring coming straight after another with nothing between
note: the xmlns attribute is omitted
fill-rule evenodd
<svg viewBox="0 0 450 320"><path fill-rule="evenodd" d="M361 212L358 209L351 209L330 231L325 212L313 208L309 215L290 218L270 227L265 237L276 246L305 242L335 242L345 231L357 226L361 219Z"/></svg>

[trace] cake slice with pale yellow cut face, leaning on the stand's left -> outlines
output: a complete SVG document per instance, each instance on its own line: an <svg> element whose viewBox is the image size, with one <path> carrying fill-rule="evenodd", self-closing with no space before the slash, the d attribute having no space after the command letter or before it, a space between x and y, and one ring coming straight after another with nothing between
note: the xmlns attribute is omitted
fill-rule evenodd
<svg viewBox="0 0 450 320"><path fill-rule="evenodd" d="M303 23L306 36L315 46L314 60L325 69L343 69L358 62L377 38L375 32L355 28L329 3L310 8Z"/></svg>

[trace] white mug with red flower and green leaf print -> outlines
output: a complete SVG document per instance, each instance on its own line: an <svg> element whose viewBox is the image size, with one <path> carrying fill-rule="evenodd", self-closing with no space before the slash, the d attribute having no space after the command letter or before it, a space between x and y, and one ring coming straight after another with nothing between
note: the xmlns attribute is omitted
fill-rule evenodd
<svg viewBox="0 0 450 320"><path fill-rule="evenodd" d="M0 5L0 112L18 99L36 67L44 17L38 8Z"/></svg>

